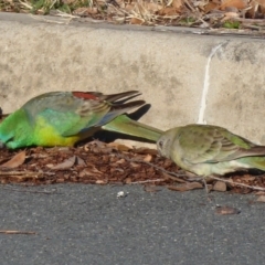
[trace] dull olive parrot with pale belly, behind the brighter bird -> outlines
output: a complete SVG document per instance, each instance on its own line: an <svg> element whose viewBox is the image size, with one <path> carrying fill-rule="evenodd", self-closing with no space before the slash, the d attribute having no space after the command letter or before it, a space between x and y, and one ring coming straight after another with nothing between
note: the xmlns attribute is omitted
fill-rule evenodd
<svg viewBox="0 0 265 265"><path fill-rule="evenodd" d="M265 146L211 125L187 125L165 131L158 152L200 177L243 169L265 171Z"/></svg>

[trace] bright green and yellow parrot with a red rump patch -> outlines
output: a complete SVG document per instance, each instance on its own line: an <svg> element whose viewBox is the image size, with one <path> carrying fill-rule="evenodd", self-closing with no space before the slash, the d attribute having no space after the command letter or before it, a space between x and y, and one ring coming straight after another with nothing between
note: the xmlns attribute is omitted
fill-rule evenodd
<svg viewBox="0 0 265 265"><path fill-rule="evenodd" d="M0 146L74 146L99 129L157 141L161 130L124 115L145 104L124 103L139 92L50 92L26 102L0 124ZM121 103L123 99L123 103Z"/></svg>

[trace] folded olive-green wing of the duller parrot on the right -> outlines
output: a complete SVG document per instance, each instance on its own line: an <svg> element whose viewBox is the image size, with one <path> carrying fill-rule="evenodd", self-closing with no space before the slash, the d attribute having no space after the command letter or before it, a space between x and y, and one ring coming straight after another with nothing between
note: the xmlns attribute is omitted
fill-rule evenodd
<svg viewBox="0 0 265 265"><path fill-rule="evenodd" d="M265 147L218 126L190 125L179 132L182 157L192 162L221 162L265 155Z"/></svg>

